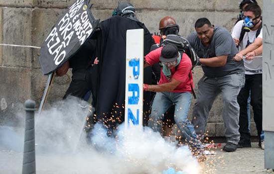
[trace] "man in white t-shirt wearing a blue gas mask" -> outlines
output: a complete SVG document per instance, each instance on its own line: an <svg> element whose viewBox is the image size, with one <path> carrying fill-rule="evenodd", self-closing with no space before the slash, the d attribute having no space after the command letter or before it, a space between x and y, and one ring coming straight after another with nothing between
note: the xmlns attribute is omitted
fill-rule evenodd
<svg viewBox="0 0 274 174"><path fill-rule="evenodd" d="M248 130L247 103L251 90L251 105L254 111L254 120L256 123L259 146L263 141L262 133L262 57L248 60L243 57L243 50L250 44L254 43L256 38L262 38L262 10L258 4L252 3L244 9L244 19L235 25L232 37L235 44L239 47L240 52L236 54L234 60L244 60L245 65L245 86L238 95L238 103L240 105L239 132L241 139L238 144L239 148L251 147L250 132ZM253 50L256 56L260 56L259 52Z"/></svg>

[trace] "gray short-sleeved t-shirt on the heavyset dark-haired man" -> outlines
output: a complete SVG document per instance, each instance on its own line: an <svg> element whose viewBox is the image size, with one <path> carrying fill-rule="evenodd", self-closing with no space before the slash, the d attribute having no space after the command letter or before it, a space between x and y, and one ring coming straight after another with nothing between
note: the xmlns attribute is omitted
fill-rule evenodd
<svg viewBox="0 0 274 174"><path fill-rule="evenodd" d="M207 77L223 77L238 71L245 71L243 60L240 62L233 60L233 57L238 53L238 49L227 29L215 26L214 34L208 47L202 44L196 32L191 33L187 37L187 40L200 58L228 55L227 63L223 67L202 65L203 71Z"/></svg>

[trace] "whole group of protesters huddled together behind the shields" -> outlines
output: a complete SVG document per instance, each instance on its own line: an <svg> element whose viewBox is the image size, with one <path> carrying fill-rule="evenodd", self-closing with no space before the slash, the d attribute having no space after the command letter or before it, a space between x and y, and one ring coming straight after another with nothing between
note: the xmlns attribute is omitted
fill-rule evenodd
<svg viewBox="0 0 274 174"><path fill-rule="evenodd" d="M128 2L119 2L113 16L101 22L84 47L57 70L56 74L63 76L72 68L72 82L65 97L85 98L92 93L95 107L92 122L103 123L109 130L108 135L115 135L125 113L126 31L142 28L144 126L163 135L166 131L163 123L175 123L179 142L189 145L193 155L203 154L202 142L209 112L216 97L221 95L227 139L223 151L234 152L237 148L251 147L249 104L253 106L259 146L264 149L262 10L256 0L243 0L240 10L232 33L202 17L196 20L195 31L184 40L199 57L195 65L200 65L204 72L198 82L192 121L187 118L192 95L196 97L193 59L191 54L176 45L163 44L170 35L184 39L178 34L179 26L173 17L164 16L159 21L160 35L152 37L137 19L134 6Z"/></svg>

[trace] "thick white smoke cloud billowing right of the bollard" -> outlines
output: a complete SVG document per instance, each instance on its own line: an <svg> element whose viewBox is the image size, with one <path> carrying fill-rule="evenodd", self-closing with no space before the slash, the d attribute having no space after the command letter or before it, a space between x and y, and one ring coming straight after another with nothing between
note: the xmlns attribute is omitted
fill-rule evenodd
<svg viewBox="0 0 274 174"><path fill-rule="evenodd" d="M162 174L169 167L187 174L199 174L199 164L187 147L177 148L159 133L125 130L108 137L96 124L91 141L83 131L88 107L70 98L52 105L36 116L36 173L40 174Z"/></svg>

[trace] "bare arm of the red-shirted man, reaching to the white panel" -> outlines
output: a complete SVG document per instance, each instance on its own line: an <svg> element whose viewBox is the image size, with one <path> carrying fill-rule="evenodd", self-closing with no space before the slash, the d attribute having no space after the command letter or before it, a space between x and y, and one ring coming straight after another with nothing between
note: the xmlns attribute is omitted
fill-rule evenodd
<svg viewBox="0 0 274 174"><path fill-rule="evenodd" d="M160 85L148 85L148 91L152 92L169 92L174 90L178 85L180 85L180 81L176 79L171 79L169 83L160 84Z"/></svg>

